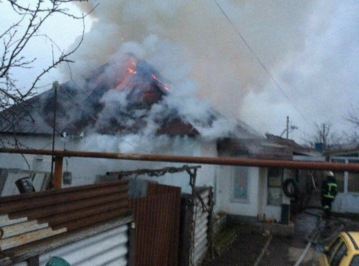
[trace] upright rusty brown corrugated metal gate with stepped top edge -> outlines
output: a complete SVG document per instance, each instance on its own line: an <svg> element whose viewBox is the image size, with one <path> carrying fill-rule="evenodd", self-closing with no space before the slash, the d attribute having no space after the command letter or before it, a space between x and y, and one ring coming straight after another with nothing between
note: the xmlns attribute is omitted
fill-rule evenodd
<svg viewBox="0 0 359 266"><path fill-rule="evenodd" d="M134 265L178 265L180 187L149 183L147 196L130 199Z"/></svg>

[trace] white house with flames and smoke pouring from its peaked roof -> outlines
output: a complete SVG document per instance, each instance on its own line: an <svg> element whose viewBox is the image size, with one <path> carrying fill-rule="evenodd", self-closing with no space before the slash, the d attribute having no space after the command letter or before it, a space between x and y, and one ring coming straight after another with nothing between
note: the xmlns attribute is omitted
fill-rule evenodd
<svg viewBox="0 0 359 266"><path fill-rule="evenodd" d="M191 108L188 102L194 102ZM93 71L83 84L62 84L56 98L53 90L47 90L3 114L7 120L0 121L0 138L10 145L16 137L18 145L33 149L51 148L55 124L57 150L289 160L293 156L287 146L264 138L244 122L227 119L200 100L181 94L180 88L172 88L151 65L131 54ZM24 158L0 154L0 168L50 170L51 158ZM153 167L147 163L84 158L68 158L65 166L72 174L72 186L94 183L96 176L108 171ZM197 185L214 188L215 212L280 221L282 204L286 202L282 178L279 170L204 165L198 171ZM142 180L190 191L186 174ZM139 187L135 189L135 194L145 193Z"/></svg>

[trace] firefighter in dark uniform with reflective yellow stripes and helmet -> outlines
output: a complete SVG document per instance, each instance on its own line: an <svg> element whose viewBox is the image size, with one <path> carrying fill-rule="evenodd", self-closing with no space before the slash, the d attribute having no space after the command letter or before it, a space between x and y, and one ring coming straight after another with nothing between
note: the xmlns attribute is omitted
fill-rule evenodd
<svg viewBox="0 0 359 266"><path fill-rule="evenodd" d="M338 193L337 179L332 171L326 172L326 179L322 182L322 206L327 218L330 218L332 202Z"/></svg>

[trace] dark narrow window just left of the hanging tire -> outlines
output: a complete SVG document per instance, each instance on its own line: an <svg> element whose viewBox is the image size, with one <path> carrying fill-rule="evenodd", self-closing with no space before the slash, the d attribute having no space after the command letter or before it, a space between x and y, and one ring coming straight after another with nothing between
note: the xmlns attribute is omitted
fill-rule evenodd
<svg viewBox="0 0 359 266"><path fill-rule="evenodd" d="M282 204L282 170L280 168L268 169L267 189L267 204L280 206Z"/></svg>

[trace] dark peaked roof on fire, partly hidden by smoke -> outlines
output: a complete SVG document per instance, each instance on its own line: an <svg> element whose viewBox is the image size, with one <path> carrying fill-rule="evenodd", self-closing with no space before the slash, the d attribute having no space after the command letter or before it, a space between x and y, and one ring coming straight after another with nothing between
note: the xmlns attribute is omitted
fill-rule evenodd
<svg viewBox="0 0 359 266"><path fill-rule="evenodd" d="M108 112L106 119L102 119L106 112L102 101L105 93L117 89L113 79L106 73L108 65L95 70L85 80L83 86L69 81L57 90L56 101L56 133L66 135L80 135L82 132L97 132L101 134L137 133L147 121L146 110L153 103L160 101L170 92L160 79L160 74L145 61L130 62L126 66L126 75L121 76L120 84L126 82L129 93L126 99L131 102L126 110ZM121 85L124 87L124 85ZM14 105L0 114L0 132L16 134L52 134L55 107L54 90L49 89L25 101L21 106ZM116 110L116 109L115 109ZM142 110L138 118L139 110ZM141 113L141 112L140 112ZM136 114L136 115L135 115ZM101 116L102 115L102 116ZM136 118L134 118L136 116ZM221 115L211 111L208 124ZM6 117L6 119L4 119ZM196 136L198 130L185 117L180 117L176 110L157 121L161 126L158 134ZM131 122L129 122L131 120ZM124 122L125 121L125 122ZM243 138L262 138L242 121L238 121L236 136Z"/></svg>

